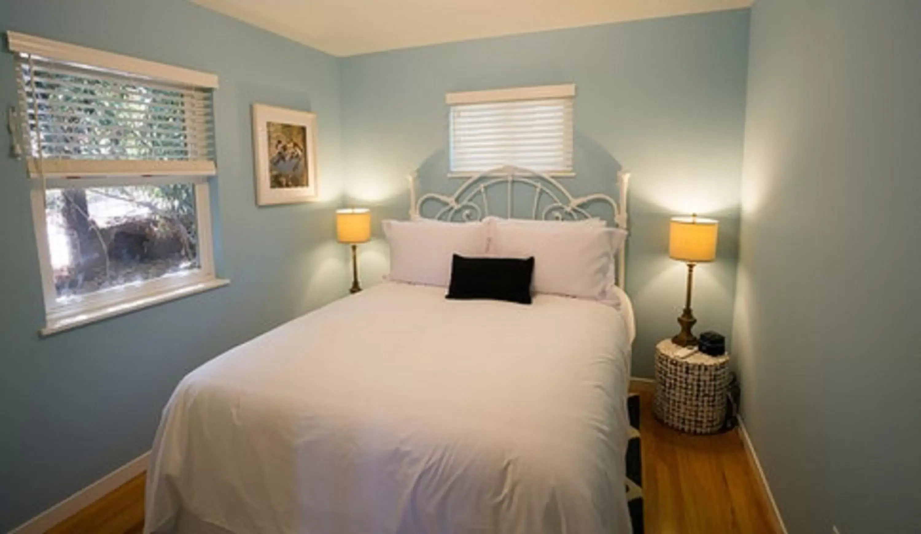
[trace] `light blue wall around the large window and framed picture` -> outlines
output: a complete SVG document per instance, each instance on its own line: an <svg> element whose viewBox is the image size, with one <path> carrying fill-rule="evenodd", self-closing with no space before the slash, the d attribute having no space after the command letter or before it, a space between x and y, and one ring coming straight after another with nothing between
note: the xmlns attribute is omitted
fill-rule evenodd
<svg viewBox="0 0 921 534"><path fill-rule="evenodd" d="M40 339L41 283L21 162L0 131L0 531L147 449L160 409L189 370L341 296L335 58L183 0L0 0L0 30L178 64L220 76L214 187L218 271L227 288ZM16 103L0 54L0 105ZM317 112L319 204L257 209L250 105Z"/></svg>

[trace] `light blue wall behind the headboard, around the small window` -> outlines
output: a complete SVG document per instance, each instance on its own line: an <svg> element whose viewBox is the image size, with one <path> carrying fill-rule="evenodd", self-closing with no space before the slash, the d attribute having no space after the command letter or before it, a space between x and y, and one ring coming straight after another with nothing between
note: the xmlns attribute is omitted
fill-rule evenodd
<svg viewBox="0 0 921 534"><path fill-rule="evenodd" d="M668 220L722 221L719 260L697 269L700 329L729 334L735 291L748 10L566 29L374 53L342 62L346 193L376 220L406 217L404 176L424 190L447 173L445 93L575 83L574 192L631 185L627 290L636 306L634 373L651 376L659 339L677 333L685 267L668 259ZM387 272L386 245L362 247L365 279Z"/></svg>

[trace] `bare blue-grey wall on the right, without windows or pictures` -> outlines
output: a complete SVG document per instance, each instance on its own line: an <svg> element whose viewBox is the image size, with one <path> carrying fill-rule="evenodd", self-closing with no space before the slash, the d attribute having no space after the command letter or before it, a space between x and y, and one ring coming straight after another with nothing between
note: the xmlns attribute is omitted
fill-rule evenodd
<svg viewBox="0 0 921 534"><path fill-rule="evenodd" d="M752 10L733 353L790 534L921 532L921 3Z"/></svg>

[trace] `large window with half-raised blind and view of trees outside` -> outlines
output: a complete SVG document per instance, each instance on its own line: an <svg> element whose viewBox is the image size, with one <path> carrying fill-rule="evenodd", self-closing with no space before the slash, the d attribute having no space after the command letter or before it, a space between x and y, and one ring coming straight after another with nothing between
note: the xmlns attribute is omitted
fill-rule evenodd
<svg viewBox="0 0 921 534"><path fill-rule="evenodd" d="M226 283L208 178L216 77L7 32L45 333Z"/></svg>

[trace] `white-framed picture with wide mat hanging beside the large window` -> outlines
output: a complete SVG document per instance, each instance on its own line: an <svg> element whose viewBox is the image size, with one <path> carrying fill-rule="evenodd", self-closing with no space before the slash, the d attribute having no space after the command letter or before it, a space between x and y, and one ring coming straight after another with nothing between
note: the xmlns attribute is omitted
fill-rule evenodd
<svg viewBox="0 0 921 534"><path fill-rule="evenodd" d="M252 140L256 204L292 204L320 198L314 113L253 104Z"/></svg>

